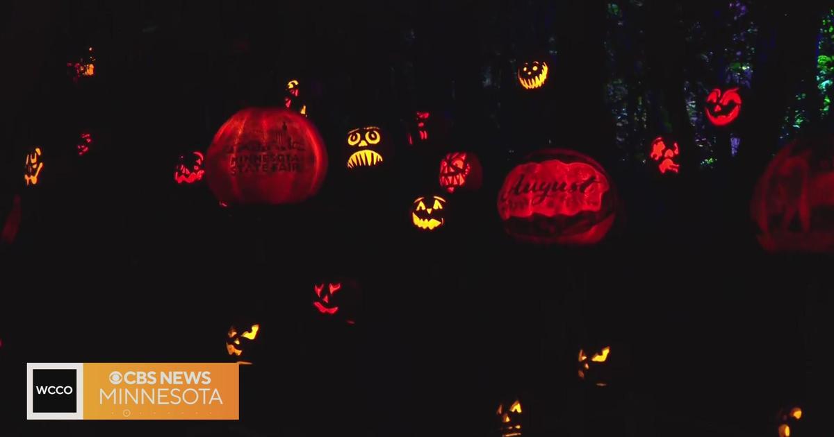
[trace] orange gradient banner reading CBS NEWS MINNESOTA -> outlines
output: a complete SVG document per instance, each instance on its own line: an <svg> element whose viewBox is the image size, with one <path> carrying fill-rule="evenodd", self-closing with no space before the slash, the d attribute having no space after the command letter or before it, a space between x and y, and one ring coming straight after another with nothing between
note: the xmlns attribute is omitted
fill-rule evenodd
<svg viewBox="0 0 834 437"><path fill-rule="evenodd" d="M236 363L84 363L85 420L238 420Z"/></svg>

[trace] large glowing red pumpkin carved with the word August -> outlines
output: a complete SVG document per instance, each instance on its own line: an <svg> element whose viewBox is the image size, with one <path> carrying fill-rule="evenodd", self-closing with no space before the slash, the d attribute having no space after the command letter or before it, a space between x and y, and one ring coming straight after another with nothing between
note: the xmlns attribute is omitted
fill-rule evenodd
<svg viewBox="0 0 834 437"><path fill-rule="evenodd" d="M602 166L565 149L527 156L498 195L507 232L536 243L595 244L610 230L615 209L614 186Z"/></svg>

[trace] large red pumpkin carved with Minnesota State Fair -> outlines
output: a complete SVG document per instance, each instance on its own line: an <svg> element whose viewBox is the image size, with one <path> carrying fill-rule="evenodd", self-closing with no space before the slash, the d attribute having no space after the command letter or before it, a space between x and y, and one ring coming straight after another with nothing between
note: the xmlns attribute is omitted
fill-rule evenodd
<svg viewBox="0 0 834 437"><path fill-rule="evenodd" d="M327 151L313 123L299 113L250 107L214 135L205 169L208 188L224 203L294 203L319 191Z"/></svg>

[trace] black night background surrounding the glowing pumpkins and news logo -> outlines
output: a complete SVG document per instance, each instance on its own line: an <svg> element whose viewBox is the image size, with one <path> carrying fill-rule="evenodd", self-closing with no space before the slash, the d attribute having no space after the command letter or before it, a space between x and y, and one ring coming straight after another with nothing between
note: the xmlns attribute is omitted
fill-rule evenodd
<svg viewBox="0 0 834 437"><path fill-rule="evenodd" d="M641 86L666 120L649 129L671 127L686 151L696 53L681 20L719 44L726 5L641 3ZM751 5L739 155L712 169L682 158L661 178L623 159L647 143L613 146L605 2L10 2L0 216L21 194L23 223L0 247L0 435L490 435L516 394L525 435L776 435L776 410L793 405L805 435L830 433L832 260L766 254L748 213L786 107L813 81L827 7ZM90 46L95 76L73 84L65 63ZM525 57L552 62L542 92L517 87ZM223 209L173 182L177 156L243 107L281 105L290 78L329 148L318 196ZM424 109L449 128L409 148ZM345 132L372 123L395 154L350 175ZM81 129L95 143L79 158ZM24 188L35 144L43 181ZM496 193L543 146L610 172L623 207L600 245L505 235ZM445 229L414 231L410 202L459 149L479 154L483 188L450 196ZM354 326L314 317L313 281L336 276L362 286ZM227 360L229 325L255 322L240 422L23 420L26 362ZM600 345L615 365L605 389L575 375L580 347Z"/></svg>

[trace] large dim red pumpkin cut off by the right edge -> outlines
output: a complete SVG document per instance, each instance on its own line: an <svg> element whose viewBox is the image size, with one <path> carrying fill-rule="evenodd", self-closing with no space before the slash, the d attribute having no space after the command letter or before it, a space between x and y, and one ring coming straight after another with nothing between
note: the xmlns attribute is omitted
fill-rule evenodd
<svg viewBox="0 0 834 437"><path fill-rule="evenodd" d="M768 251L834 251L834 137L779 151L756 185L751 212Z"/></svg>

